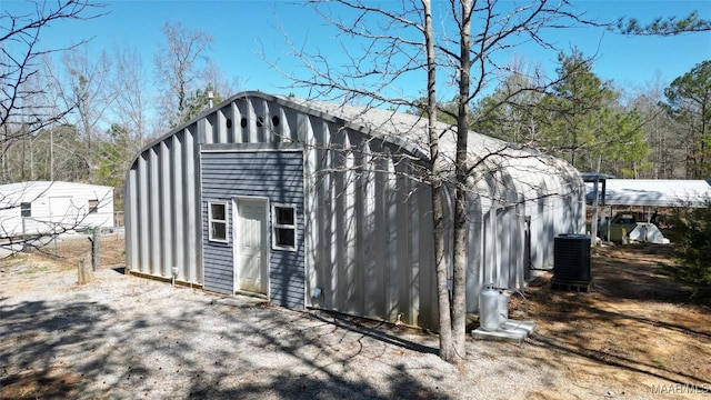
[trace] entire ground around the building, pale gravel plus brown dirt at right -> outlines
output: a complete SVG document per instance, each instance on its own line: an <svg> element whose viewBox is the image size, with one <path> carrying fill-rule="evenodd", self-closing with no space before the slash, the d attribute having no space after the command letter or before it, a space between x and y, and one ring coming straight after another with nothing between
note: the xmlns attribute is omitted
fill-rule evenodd
<svg viewBox="0 0 711 400"><path fill-rule="evenodd" d="M589 292L544 273L511 299L533 336L472 339L457 367L429 332L124 276L119 237L84 286L90 243L57 250L0 261L0 399L711 399L711 308L664 273L669 246L594 250Z"/></svg>

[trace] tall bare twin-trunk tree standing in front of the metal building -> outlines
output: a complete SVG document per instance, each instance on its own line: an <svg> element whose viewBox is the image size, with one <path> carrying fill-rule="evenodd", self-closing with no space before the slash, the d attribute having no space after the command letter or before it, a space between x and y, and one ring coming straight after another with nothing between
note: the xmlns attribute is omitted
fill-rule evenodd
<svg viewBox="0 0 711 400"><path fill-rule="evenodd" d="M483 149L472 159L468 143L470 104L505 70L505 66L497 63L494 54L525 42L553 49L553 43L543 37L547 29L593 23L579 18L568 1L524 6L495 0L447 3L405 0L382 7L359 0L311 3L337 29L343 57L332 59L289 42L293 56L308 70L306 76L286 72L294 87L308 89L311 98L320 100L415 109L429 119L428 143L421 143L430 151L429 167L419 179L432 188L440 357L451 362L461 360L465 357L467 193L472 191L477 179L495 179L492 177L497 169L505 164L501 159L512 157L508 156L507 146L500 144ZM424 101L408 99L397 89L412 77L422 82L427 91ZM440 83L442 79L444 83ZM453 108L440 107L443 102L437 98L437 88L445 86L457 89ZM521 86L508 96L543 89ZM441 114L455 121L454 127L442 131L442 126L435 123ZM449 148L443 151L444 139L448 146L453 143L453 151ZM490 167L497 159L500 164ZM451 231L444 228L448 217L442 198L453 203L453 216L449 217ZM447 259L443 244L448 232L453 243L451 259ZM448 266L453 266L451 276Z"/></svg>

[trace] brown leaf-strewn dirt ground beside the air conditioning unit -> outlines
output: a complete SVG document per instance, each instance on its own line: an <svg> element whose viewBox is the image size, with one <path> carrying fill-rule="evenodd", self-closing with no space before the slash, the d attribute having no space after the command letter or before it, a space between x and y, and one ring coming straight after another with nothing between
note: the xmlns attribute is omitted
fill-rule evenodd
<svg viewBox="0 0 711 400"><path fill-rule="evenodd" d="M588 293L551 291L545 274L527 288L538 323L530 343L580 356L561 371L572 381L651 388L662 379L710 397L711 308L690 304L684 287L664 273L671 252L641 243L594 249Z"/></svg>

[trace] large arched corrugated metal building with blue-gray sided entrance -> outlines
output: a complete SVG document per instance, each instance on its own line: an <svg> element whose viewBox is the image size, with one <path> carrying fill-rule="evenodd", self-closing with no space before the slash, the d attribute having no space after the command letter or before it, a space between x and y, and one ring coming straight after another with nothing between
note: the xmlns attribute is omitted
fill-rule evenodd
<svg viewBox="0 0 711 400"><path fill-rule="evenodd" d="M452 127L438 129L453 159ZM475 312L483 283L521 288L529 267L552 264L555 234L583 231L584 187L562 160L469 134ZM428 148L415 116L236 94L132 162L127 269L176 267L206 290L435 327Z"/></svg>

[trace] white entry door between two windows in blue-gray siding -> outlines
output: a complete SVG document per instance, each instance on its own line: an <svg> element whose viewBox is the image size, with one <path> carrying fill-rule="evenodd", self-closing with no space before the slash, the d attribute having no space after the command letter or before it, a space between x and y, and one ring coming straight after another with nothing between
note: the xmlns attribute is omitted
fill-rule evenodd
<svg viewBox="0 0 711 400"><path fill-rule="evenodd" d="M236 203L238 288L267 294L267 200L239 199Z"/></svg>

